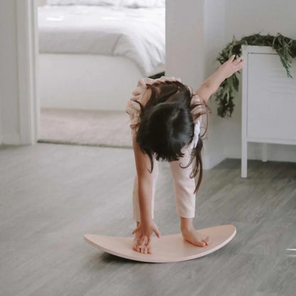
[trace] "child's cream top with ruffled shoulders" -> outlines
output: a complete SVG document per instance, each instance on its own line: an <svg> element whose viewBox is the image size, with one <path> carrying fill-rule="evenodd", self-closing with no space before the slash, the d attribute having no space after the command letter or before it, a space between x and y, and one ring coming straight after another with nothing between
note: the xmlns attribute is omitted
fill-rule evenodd
<svg viewBox="0 0 296 296"><path fill-rule="evenodd" d="M162 76L161 78L152 79L152 78L142 78L137 83L137 88L134 89L132 92L132 98L127 102L126 112L129 115L130 120L130 128L132 129L132 132L137 132L136 127L140 122L140 112L141 107L139 104L135 101L141 102L142 105L145 105L147 100L149 100L149 96L147 94L145 95L145 92L147 90L146 84L153 84L157 81L179 81L181 83L180 78L174 78L174 77L165 77ZM196 93L193 93L193 96L191 98L191 104L196 104L198 102L201 102L201 99L199 98ZM200 112L201 107L195 107L193 110L191 110L191 114L195 115L196 112ZM196 122L194 122L196 123Z"/></svg>

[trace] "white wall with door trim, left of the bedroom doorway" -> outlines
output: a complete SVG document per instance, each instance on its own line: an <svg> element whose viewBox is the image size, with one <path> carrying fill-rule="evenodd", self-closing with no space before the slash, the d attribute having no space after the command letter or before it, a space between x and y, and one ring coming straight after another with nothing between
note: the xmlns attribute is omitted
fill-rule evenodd
<svg viewBox="0 0 296 296"><path fill-rule="evenodd" d="M31 144L36 139L36 23L34 0L0 4L0 144Z"/></svg>

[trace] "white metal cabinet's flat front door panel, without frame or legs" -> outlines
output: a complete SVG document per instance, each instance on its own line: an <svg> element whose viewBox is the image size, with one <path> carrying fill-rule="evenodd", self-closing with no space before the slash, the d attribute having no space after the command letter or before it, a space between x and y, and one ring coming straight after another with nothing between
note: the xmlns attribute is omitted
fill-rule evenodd
<svg viewBox="0 0 296 296"><path fill-rule="evenodd" d="M290 73L293 78L277 54L248 54L247 137L296 139L295 59Z"/></svg>

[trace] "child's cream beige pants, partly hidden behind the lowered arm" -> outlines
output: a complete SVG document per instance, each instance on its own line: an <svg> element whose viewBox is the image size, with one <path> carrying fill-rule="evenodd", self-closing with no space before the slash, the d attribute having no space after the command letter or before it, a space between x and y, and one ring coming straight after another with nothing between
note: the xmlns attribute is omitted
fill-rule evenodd
<svg viewBox="0 0 296 296"><path fill-rule="evenodd" d="M192 166L191 164L188 168L182 169L179 164L186 166L189 163L191 150L189 147L184 147L182 149L184 157L181 159L170 162L171 174L174 179L174 194L176 200L176 213L180 217L184 218L194 218L195 214L195 199L194 194L195 181L194 179L189 178ZM152 218L154 218L154 195L155 187L157 183L157 176L159 174L158 162L154 158L154 168L152 171L153 178L153 187L152 187ZM138 195L138 180L137 175L134 179L134 190L132 194L132 203L134 210L134 220L141 221L140 212L139 212L139 195Z"/></svg>

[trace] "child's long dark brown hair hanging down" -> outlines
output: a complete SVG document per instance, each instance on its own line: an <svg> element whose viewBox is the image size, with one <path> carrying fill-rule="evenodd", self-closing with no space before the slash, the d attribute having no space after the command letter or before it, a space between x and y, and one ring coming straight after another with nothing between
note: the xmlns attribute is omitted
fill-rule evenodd
<svg viewBox="0 0 296 296"><path fill-rule="evenodd" d="M203 177L203 162L201 159L201 149L203 147L202 138L206 134L208 127L208 113L211 112L206 102L192 104L193 93L191 89L174 81L157 81L152 85L147 84L147 89L151 90L151 96L147 104L143 106L140 102L141 113L140 122L137 128L136 141L143 153L147 154L151 170L153 170L153 155L157 160L162 159L168 162L178 160L184 156L181 149L190 144L194 137L194 122L206 115L206 127L203 134L199 135L196 148L192 149L189 164L180 166L186 168L194 161L194 166L190 178L199 174L194 194L199 190ZM194 108L200 110L191 111Z"/></svg>

